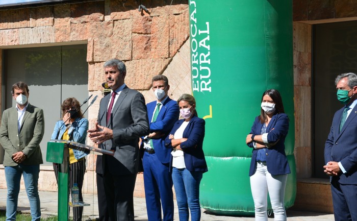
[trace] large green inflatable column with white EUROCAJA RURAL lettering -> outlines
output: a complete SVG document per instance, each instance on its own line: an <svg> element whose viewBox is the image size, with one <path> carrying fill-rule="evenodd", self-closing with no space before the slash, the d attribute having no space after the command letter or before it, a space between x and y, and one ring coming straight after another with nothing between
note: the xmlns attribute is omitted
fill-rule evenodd
<svg viewBox="0 0 357 221"><path fill-rule="evenodd" d="M294 204L292 1L189 0L192 92L206 119L203 143L209 171L201 207L219 214L254 213L249 183L251 149L245 144L262 93L279 90L290 118L285 206ZM269 205L269 209L271 206Z"/></svg>

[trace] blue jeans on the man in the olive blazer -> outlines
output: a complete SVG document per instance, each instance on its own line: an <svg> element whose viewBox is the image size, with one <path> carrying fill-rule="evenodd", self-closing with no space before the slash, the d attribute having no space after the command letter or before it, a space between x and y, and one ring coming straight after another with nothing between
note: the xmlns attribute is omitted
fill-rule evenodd
<svg viewBox="0 0 357 221"><path fill-rule="evenodd" d="M38 175L40 165L5 166L6 185L8 187L8 196L6 199L6 220L16 220L17 200L20 191L21 175L25 183L25 189L30 201L30 211L32 221L40 221L41 208L40 197L38 195Z"/></svg>

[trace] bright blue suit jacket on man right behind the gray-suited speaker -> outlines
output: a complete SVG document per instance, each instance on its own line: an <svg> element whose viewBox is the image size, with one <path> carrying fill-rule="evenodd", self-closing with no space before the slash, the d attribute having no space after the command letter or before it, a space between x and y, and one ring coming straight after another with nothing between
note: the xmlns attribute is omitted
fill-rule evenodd
<svg viewBox="0 0 357 221"><path fill-rule="evenodd" d="M154 115L154 110L157 102L153 101L146 105L147 107L147 116L149 121ZM165 148L165 138L169 135L173 125L179 119L180 110L177 102L167 97L164 104L160 109L159 115L156 118L155 122L150 122L150 133L152 132L161 132L164 133L164 136L160 138L152 138L152 144L154 145L155 154L161 161L161 163L169 163L171 159L171 150ZM143 148L141 148L143 150Z"/></svg>

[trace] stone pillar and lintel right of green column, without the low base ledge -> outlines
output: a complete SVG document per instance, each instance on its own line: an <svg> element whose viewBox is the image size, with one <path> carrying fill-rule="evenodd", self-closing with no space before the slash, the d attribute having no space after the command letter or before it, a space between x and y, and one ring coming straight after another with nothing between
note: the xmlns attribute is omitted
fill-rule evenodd
<svg viewBox="0 0 357 221"><path fill-rule="evenodd" d="M357 0L293 0L295 158L298 179L312 177L311 75L313 24L357 20Z"/></svg>

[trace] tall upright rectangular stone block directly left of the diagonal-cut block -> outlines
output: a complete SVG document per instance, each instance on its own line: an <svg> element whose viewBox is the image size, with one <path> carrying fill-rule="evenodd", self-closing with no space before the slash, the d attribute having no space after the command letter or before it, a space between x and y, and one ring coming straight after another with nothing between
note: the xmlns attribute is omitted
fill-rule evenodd
<svg viewBox="0 0 357 221"><path fill-rule="evenodd" d="M169 57L169 18L167 15L152 17L151 57Z"/></svg>

